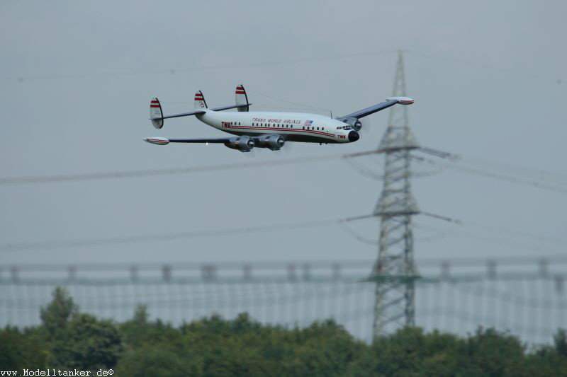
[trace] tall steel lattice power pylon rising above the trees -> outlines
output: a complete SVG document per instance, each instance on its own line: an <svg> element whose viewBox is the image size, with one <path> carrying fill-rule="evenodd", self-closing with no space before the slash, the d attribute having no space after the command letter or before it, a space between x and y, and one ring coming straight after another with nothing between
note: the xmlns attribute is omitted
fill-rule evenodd
<svg viewBox="0 0 567 377"><path fill-rule="evenodd" d="M403 53L398 56L394 96L405 96ZM374 215L381 217L376 281L374 337L400 325L415 324L417 277L413 261L412 216L420 210L411 192L410 151L419 148L408 125L408 108L393 106L380 146L386 156L384 183Z"/></svg>

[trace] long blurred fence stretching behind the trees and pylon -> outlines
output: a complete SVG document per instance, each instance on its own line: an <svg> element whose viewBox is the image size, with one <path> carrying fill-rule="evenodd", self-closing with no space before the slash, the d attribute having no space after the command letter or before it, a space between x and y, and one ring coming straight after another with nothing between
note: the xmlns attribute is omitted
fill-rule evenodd
<svg viewBox="0 0 567 377"><path fill-rule="evenodd" d="M415 322L461 335L478 326L549 343L567 327L567 258L418 261ZM22 265L0 269L0 325L40 323L55 286L82 311L123 321L139 304L179 324L248 312L262 323L305 326L334 318L371 339L372 261L205 265ZM400 320L403 322L403 320ZM392 324L393 330L398 324Z"/></svg>

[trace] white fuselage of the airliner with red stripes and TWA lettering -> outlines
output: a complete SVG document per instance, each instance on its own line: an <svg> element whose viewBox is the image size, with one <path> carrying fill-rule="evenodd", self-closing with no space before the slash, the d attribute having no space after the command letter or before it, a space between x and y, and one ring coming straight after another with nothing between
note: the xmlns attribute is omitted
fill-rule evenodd
<svg viewBox="0 0 567 377"><path fill-rule="evenodd" d="M286 141L349 143L352 127L339 120L297 112L220 112L207 110L196 115L211 127L250 137L278 134ZM358 139L358 137L357 137Z"/></svg>

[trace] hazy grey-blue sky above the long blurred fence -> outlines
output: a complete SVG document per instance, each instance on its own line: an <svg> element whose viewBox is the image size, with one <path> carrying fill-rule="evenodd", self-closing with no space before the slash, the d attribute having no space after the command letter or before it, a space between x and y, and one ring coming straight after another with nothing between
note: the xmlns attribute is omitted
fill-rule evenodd
<svg viewBox="0 0 567 377"><path fill-rule="evenodd" d="M410 125L423 146L457 153L469 167L567 187L566 14L561 0L3 0L0 178L375 149L387 111L368 117L368 132L356 143L294 144L289 153L259 150L252 158L222 145L155 146L142 138L222 136L193 117L156 130L147 120L149 101L157 96L164 112L182 112L201 89L210 106L229 105L238 83L261 110L307 110L293 103L335 116L359 110L391 95L402 49L408 95L415 98ZM383 170L380 157L357 162ZM337 158L0 185L0 264L371 259L376 245L337 226L80 248L6 245L359 216L374 210L381 185ZM464 222L417 216L417 258L565 253L566 192L451 169L415 178L413 190L423 211ZM378 237L378 220L349 226Z"/></svg>

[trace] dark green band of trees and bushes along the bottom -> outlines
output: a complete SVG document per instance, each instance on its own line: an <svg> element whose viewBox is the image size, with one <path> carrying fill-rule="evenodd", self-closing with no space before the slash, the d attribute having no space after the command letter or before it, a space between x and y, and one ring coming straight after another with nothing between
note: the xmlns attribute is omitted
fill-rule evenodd
<svg viewBox="0 0 567 377"><path fill-rule="evenodd" d="M80 313L63 289L42 325L0 330L0 370L114 370L114 376L567 376L567 332L528 349L515 336L479 328L468 337L405 327L374 344L331 320L306 328L262 325L240 314L179 327L149 320L144 306L125 323Z"/></svg>

